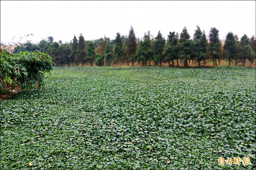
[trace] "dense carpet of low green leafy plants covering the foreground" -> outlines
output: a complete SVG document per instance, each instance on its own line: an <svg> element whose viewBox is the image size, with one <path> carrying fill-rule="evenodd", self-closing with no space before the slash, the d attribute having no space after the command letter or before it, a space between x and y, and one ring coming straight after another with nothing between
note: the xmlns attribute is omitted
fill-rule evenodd
<svg viewBox="0 0 256 170"><path fill-rule="evenodd" d="M0 169L256 168L255 69L59 67L45 82L1 101Z"/></svg>

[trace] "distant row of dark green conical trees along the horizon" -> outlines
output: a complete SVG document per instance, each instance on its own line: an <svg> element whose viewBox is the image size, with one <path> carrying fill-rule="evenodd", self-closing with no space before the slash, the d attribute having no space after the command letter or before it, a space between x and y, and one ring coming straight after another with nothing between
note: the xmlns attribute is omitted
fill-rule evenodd
<svg viewBox="0 0 256 170"><path fill-rule="evenodd" d="M110 66L127 64L134 66L137 62L143 66L159 65L168 63L173 67L176 63L182 62L184 67L189 63L201 65L212 61L213 67L220 65L222 59L232 63L242 63L246 60L250 63L256 59L255 55L255 36L251 38L246 34L241 37L228 32L224 46L219 38L219 31L215 27L209 31L209 40L204 31L197 26L195 34L191 37L186 26L178 34L175 31L169 32L167 40L158 32L156 37L150 31L144 34L143 38L135 36L131 26L128 36L116 33L114 40L108 37L93 41L86 41L82 34L77 39L74 35L70 43L62 43L61 40L54 42L53 37L41 40L38 44L26 42L17 46L14 53L20 51L40 50L49 54L53 58L55 66L64 65L91 65Z"/></svg>

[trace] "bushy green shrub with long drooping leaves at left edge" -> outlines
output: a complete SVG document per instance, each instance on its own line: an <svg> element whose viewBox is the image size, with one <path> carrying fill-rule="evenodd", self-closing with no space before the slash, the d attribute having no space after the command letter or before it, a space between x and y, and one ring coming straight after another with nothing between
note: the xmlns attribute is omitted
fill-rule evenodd
<svg viewBox="0 0 256 170"><path fill-rule="evenodd" d="M52 57L40 51L24 51L19 54L10 54L1 51L0 88L18 85L21 88L32 90L35 86L44 87L44 74L52 70ZM10 83L11 80L12 82Z"/></svg>

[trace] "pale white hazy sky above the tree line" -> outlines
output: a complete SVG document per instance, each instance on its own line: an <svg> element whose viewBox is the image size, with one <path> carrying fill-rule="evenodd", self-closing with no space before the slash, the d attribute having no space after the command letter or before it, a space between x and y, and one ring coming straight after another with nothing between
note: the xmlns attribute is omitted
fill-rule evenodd
<svg viewBox="0 0 256 170"><path fill-rule="evenodd" d="M0 41L31 40L36 43L52 36L54 41L70 42L74 34L85 40L114 39L116 33L128 35L133 26L136 37L148 30L167 37L170 31L181 33L184 26L191 37L196 26L209 35L219 30L223 39L232 31L248 37L256 32L256 1L0 1Z"/></svg>

